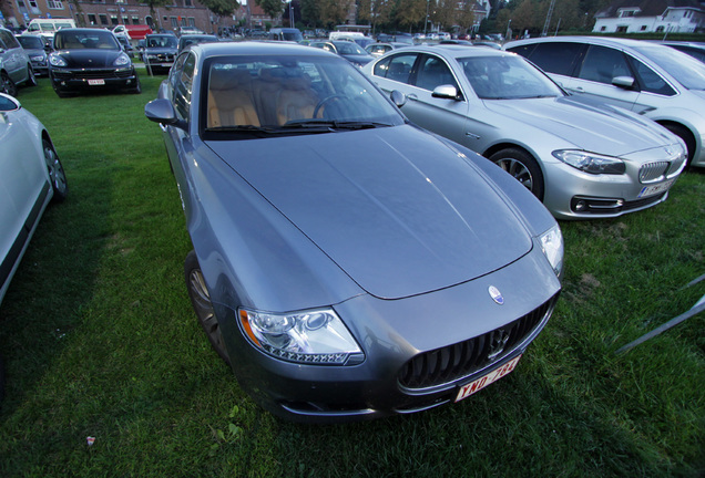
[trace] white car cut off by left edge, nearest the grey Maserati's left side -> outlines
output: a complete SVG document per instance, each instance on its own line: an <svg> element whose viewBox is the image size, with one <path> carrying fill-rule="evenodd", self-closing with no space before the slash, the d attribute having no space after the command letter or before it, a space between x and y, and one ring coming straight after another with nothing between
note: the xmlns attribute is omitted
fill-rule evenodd
<svg viewBox="0 0 705 478"><path fill-rule="evenodd" d="M0 93L0 302L47 205L67 198L68 185L47 128Z"/></svg>

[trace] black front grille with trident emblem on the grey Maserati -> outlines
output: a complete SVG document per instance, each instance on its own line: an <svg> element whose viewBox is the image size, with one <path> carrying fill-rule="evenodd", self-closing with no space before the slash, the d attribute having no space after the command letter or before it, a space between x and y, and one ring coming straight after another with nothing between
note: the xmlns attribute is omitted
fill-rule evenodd
<svg viewBox="0 0 705 478"><path fill-rule="evenodd" d="M428 388L472 375L521 345L548 318L556 300L558 294L527 315L482 335L413 356L399 371L399 384ZM500 336L505 340L504 346L493 355L493 342Z"/></svg>

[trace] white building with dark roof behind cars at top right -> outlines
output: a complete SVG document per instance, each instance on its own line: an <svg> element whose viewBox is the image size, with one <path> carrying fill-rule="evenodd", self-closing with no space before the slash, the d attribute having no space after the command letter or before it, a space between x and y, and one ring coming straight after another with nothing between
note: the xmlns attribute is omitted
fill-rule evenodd
<svg viewBox="0 0 705 478"><path fill-rule="evenodd" d="M595 19L595 33L698 33L705 31L705 2L614 0Z"/></svg>

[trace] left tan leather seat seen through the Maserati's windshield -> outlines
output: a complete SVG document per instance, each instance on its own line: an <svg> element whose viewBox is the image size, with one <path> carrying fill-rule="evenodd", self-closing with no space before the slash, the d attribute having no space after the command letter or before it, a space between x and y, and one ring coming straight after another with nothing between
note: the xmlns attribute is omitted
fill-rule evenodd
<svg viewBox="0 0 705 478"><path fill-rule="evenodd" d="M259 126L249 72L214 69L208 83L208 127Z"/></svg>

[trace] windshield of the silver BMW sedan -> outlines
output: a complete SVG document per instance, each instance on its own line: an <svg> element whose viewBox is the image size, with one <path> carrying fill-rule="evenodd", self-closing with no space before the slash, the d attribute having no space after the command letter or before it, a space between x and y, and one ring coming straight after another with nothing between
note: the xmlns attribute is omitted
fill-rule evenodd
<svg viewBox="0 0 705 478"><path fill-rule="evenodd" d="M458 59L474 93L482 100L563 96L561 89L521 56Z"/></svg>

